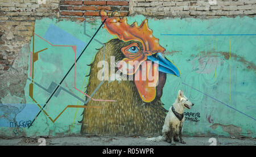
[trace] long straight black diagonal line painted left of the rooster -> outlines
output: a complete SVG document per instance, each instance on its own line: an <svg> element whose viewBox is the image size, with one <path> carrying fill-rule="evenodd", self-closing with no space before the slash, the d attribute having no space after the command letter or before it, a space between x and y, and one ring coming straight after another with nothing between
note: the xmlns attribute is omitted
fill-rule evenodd
<svg viewBox="0 0 256 157"><path fill-rule="evenodd" d="M85 49L88 48L88 45L92 42L93 38L96 36L96 34L98 33L98 31L100 30L100 28L103 26L103 24L105 23L106 19L101 23L101 26L98 27L97 31L94 33L93 37L90 39L89 43L85 46L84 50L82 50L81 54L79 55L79 57L76 59L76 62L79 60L79 58L82 56L82 54L84 53ZM67 74L65 74L64 78L60 81L60 83L58 84L58 86L55 88L55 90L52 92L51 96L49 97L49 99L46 101L46 104L44 104L44 106L42 107L42 109L44 109L44 107L46 107L47 103L49 102L49 100L51 100L52 96L55 94L55 92L57 91L57 89L60 87L61 83L63 83L64 79L67 77L67 75L69 74L69 72L73 69L73 67L75 66L75 63L73 63L73 65L71 66L71 68L68 70ZM39 116L39 114L42 112L42 109L40 109L39 113L36 115L36 117L34 118L34 120L31 122L30 126L32 126L33 122L35 121L35 119ZM28 128L30 128L30 126L28 126Z"/></svg>

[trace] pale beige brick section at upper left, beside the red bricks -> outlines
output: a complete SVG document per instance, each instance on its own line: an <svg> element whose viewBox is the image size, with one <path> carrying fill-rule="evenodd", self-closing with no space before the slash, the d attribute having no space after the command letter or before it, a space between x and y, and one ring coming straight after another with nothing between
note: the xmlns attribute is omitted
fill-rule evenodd
<svg viewBox="0 0 256 157"><path fill-rule="evenodd" d="M22 45L30 43L35 19L59 17L59 0L0 0L0 75L8 70Z"/></svg>

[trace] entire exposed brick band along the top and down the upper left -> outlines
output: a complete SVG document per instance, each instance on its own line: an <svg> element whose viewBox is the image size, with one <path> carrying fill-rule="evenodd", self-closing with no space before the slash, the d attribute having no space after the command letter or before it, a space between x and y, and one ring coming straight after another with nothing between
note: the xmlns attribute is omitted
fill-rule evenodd
<svg viewBox="0 0 256 157"><path fill-rule="evenodd" d="M118 11L121 16L218 18L256 15L256 0L217 0L213 5L203 0L47 0L46 4L39 4L37 0L2 0L0 5L0 75L9 69L7 63L12 65L21 45L30 43L35 19L61 16L67 20L83 21L84 16L91 16L86 19L95 20L92 16L99 16L102 9L108 13Z"/></svg>

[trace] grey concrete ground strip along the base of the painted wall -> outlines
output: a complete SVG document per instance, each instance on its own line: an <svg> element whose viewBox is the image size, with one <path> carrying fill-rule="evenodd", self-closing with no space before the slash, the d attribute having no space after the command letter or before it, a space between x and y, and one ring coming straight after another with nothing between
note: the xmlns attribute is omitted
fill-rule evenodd
<svg viewBox="0 0 256 157"><path fill-rule="evenodd" d="M0 146L38 146L43 142L38 142L38 138L0 138ZM56 137L44 138L46 146L170 146L167 142L146 141L146 137ZM43 141L44 141L43 139ZM176 142L177 146L209 146L214 145L216 139L217 146L256 146L254 138L224 138L215 137L213 142L209 142L210 137L183 137L186 144Z"/></svg>

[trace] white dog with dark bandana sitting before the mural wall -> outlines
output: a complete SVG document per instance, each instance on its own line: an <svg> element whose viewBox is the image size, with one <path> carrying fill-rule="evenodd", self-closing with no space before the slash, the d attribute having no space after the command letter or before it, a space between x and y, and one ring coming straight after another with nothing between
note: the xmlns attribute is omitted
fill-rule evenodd
<svg viewBox="0 0 256 157"><path fill-rule="evenodd" d="M179 94L175 103L170 107L169 112L166 115L162 136L147 138L148 141L167 141L171 145L175 145L175 142L180 142L185 144L185 141L182 139L182 126L184 121L184 110L185 107L190 109L194 104L188 100L188 98L179 90Z"/></svg>

